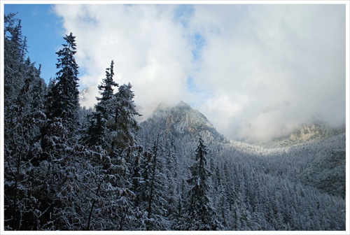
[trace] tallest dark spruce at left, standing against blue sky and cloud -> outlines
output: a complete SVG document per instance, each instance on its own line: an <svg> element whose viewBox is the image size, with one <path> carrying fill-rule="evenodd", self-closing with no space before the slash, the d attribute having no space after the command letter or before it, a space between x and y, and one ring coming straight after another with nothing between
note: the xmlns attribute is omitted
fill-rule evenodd
<svg viewBox="0 0 350 235"><path fill-rule="evenodd" d="M76 54L75 36L65 36L66 44L56 54L59 71L57 77L50 80L45 96L45 114L48 118L41 129L43 148L42 159L52 159L55 152L52 148L61 148L66 143L69 146L78 142L76 136L79 102L78 102L78 65L74 59ZM53 129L50 129L53 128ZM55 129L62 131L55 131ZM56 144L58 144L56 146Z"/></svg>

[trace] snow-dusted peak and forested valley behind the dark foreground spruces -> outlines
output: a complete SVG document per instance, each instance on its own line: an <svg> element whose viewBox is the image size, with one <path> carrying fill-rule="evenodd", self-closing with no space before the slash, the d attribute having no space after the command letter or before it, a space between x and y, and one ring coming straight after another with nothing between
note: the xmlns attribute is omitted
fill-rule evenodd
<svg viewBox="0 0 350 235"><path fill-rule="evenodd" d="M165 148L174 141L178 185L189 175L202 136L209 149L211 203L225 230L344 229L345 131L304 126L269 145L229 141L182 101L158 107L141 127L146 146L158 134ZM186 192L177 190L177 197Z"/></svg>

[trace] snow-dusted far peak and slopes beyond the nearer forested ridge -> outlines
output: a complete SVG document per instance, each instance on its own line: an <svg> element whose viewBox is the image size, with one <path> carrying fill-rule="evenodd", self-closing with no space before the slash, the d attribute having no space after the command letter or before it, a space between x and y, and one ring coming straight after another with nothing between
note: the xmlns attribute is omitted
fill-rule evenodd
<svg viewBox="0 0 350 235"><path fill-rule="evenodd" d="M158 134L173 136L181 150L181 161L188 160L197 139L204 136L214 157L225 156L225 161L259 162L258 171L344 198L345 129L308 124L269 143L253 145L229 141L200 111L183 101L172 108L160 104L141 122L141 127L144 143L152 143L150 140Z"/></svg>

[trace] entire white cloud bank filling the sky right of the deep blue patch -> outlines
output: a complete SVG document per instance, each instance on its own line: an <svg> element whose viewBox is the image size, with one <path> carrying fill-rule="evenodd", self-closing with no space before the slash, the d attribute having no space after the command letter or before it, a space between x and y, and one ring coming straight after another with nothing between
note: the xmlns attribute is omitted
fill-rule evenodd
<svg viewBox="0 0 350 235"><path fill-rule="evenodd" d="M271 138L311 118L345 122L342 5L55 10L76 36L80 87L96 87L114 59L116 81L132 83L137 104L187 101L230 138Z"/></svg>

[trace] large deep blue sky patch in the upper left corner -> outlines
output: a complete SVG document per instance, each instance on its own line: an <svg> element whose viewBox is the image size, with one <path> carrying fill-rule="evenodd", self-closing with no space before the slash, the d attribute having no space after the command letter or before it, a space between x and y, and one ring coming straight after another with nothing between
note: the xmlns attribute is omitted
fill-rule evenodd
<svg viewBox="0 0 350 235"><path fill-rule="evenodd" d="M42 64L41 77L55 78L57 56L55 52L64 43L64 29L50 4L5 4L5 14L18 13L22 34L27 36L28 55L31 62Z"/></svg>

